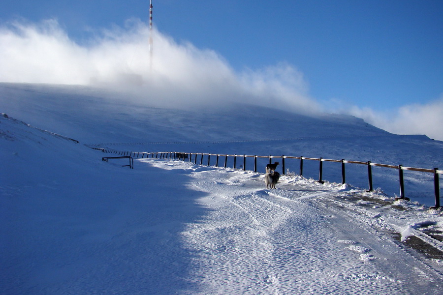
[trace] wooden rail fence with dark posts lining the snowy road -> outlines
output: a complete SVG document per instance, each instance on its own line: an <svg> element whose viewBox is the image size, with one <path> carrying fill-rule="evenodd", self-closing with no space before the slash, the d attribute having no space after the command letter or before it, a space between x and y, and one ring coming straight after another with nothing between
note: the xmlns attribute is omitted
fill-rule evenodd
<svg viewBox="0 0 443 295"><path fill-rule="evenodd" d="M400 184L400 199L408 199L405 197L405 186L404 186L404 177L403 177L403 171L409 170L409 171L416 171L416 172L425 172L425 173L432 173L434 175L434 191L435 191L435 208L440 207L440 184L439 184L439 174L443 174L443 170L439 170L438 168L433 169L425 169L425 168L414 168L414 167L407 167L403 165L388 165L388 164L380 164L380 163L372 163L371 161L368 162L362 162L362 161L352 161L352 160L335 160L335 159L324 159L324 158L309 158L309 157L302 157L302 156L285 156L285 155L279 155L279 156L260 156L260 155L238 155L238 154L215 154L215 153L198 153L198 152L174 152L174 151L163 151L163 152L133 152L133 151L118 151L114 149L105 149L105 148L94 148L90 147L96 150L100 150L105 153L115 153L120 156L129 156L134 158L144 158L146 155L146 158L149 158L151 155L151 158L168 158L168 159L179 159L185 161L185 159L188 159L189 162L192 162L192 156L194 156L194 164L197 164L197 158L200 156L199 164L203 165L203 156L207 156L207 166L210 166L211 156L216 157L216 167L219 166L219 159L220 157L224 158L224 164L223 167L227 167L227 159L229 157L233 157L234 164L233 168L237 169L237 158L243 158L243 170L246 170L246 158L253 157L254 158L254 172L257 172L257 158L269 158L269 163L271 163L272 159L275 158L281 158L282 159L282 170L283 175L285 175L285 159L298 159L300 160L300 176L303 176L303 161L304 160L310 160L310 161L318 161L319 162L319 173L318 173L318 182L324 183L322 175L323 175L323 162L335 162L341 164L341 173L342 173L342 183L346 183L346 169L345 164L361 164L366 165L368 167L368 191L373 191L373 182L372 182L372 167L383 167L383 168L391 168L391 169L397 169L399 172L399 184Z"/></svg>

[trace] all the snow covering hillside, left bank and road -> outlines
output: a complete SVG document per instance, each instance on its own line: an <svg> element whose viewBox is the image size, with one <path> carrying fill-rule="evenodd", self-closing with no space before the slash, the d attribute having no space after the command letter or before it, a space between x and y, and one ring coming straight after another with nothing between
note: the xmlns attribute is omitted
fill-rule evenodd
<svg viewBox="0 0 443 295"><path fill-rule="evenodd" d="M380 189L366 192L351 166L348 183L320 184L310 178L318 162L301 177L288 161L291 173L266 189L268 159L258 172L163 158L134 159L129 169L127 159L104 162L113 154L85 146L433 168L443 167L441 142L352 117L268 118L246 106L214 114L106 95L0 85L2 294L441 294L442 255L408 244L416 237L443 251L433 238L442 211L422 202L433 205L433 177L405 173L411 202L395 201L384 187L396 171L374 169ZM271 138L285 140L263 140ZM323 179L333 170L325 163Z"/></svg>

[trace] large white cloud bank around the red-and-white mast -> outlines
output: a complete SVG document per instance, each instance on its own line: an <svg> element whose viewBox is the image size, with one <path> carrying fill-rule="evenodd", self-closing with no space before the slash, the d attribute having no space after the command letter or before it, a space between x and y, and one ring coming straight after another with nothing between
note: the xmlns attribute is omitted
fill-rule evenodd
<svg viewBox="0 0 443 295"><path fill-rule="evenodd" d="M248 102L298 112L319 108L303 75L285 63L235 72L215 51L177 43L139 20L102 30L89 45L72 41L56 20L0 28L0 81L94 84L159 105Z"/></svg>

